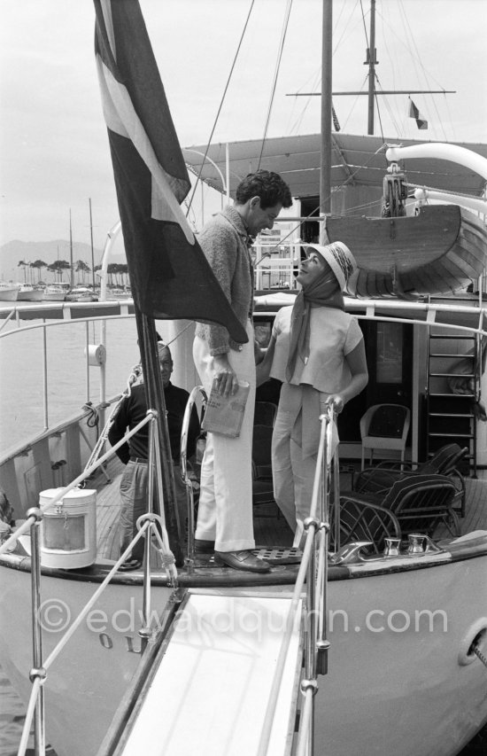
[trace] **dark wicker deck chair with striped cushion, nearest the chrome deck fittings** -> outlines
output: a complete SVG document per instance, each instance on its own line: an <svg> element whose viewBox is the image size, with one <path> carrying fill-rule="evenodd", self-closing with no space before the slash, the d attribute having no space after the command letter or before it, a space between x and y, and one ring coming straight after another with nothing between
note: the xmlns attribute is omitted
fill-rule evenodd
<svg viewBox="0 0 487 756"><path fill-rule="evenodd" d="M438 526L444 526L457 537L460 523L452 507L456 494L451 478L421 474L398 479L383 494L343 492L342 542L373 541L375 552L380 553L387 537L405 538L410 533L421 533L432 538Z"/></svg>

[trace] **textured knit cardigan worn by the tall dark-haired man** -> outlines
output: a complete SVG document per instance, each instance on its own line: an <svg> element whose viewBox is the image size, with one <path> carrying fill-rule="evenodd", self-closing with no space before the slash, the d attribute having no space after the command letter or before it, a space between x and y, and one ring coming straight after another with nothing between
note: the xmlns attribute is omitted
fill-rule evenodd
<svg viewBox="0 0 487 756"><path fill-rule="evenodd" d="M245 328L253 309L253 269L248 234L235 207L225 207L206 223L198 242L225 296ZM241 345L218 324L197 323L197 336L205 339L211 355L224 355Z"/></svg>

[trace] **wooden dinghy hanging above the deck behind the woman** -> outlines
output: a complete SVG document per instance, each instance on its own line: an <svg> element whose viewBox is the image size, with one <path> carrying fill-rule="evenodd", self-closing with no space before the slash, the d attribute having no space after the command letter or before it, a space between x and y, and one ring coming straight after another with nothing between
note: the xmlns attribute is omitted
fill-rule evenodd
<svg viewBox="0 0 487 756"><path fill-rule="evenodd" d="M487 230L457 205L420 207L388 218L330 216L330 241L353 250L358 297L401 299L458 292L485 268Z"/></svg>

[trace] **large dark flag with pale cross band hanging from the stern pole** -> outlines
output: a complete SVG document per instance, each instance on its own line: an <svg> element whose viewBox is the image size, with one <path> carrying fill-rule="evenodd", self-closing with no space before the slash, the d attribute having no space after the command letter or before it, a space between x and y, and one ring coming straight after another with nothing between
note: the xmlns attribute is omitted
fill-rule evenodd
<svg viewBox="0 0 487 756"><path fill-rule="evenodd" d="M104 120L136 306L248 340L180 203L189 176L138 0L94 0ZM174 62L174 65L177 65Z"/></svg>

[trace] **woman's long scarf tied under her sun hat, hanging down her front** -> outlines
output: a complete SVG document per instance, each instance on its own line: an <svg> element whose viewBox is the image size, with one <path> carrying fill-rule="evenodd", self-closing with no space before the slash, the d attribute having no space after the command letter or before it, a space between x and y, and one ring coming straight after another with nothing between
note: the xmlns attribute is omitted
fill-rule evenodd
<svg viewBox="0 0 487 756"><path fill-rule="evenodd" d="M344 295L329 270L322 277L298 293L290 318L290 355L286 366L286 380L290 381L296 369L298 355L308 361L310 319L312 307L344 309Z"/></svg>

